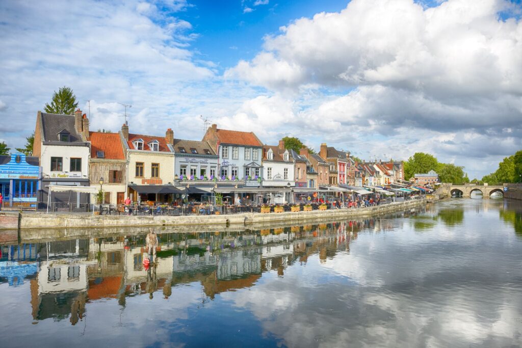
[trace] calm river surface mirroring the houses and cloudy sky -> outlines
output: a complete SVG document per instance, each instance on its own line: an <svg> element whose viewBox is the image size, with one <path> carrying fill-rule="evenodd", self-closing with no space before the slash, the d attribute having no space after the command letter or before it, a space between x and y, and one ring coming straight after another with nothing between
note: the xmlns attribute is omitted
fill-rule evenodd
<svg viewBox="0 0 522 348"><path fill-rule="evenodd" d="M522 346L522 205L2 245L4 347Z"/></svg>

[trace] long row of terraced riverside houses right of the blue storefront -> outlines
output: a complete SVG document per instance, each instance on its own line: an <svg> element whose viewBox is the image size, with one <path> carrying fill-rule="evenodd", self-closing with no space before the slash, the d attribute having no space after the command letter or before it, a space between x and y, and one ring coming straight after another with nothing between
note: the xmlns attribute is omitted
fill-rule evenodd
<svg viewBox="0 0 522 348"><path fill-rule="evenodd" d="M164 135L129 133L124 124L117 133L89 130L86 114L38 112L34 158L40 164L39 181L30 185L34 200L46 202L49 185L103 187L105 203L172 202L193 195L210 200L212 194L234 193L252 202L288 202L292 189L387 186L404 180L401 162L358 163L350 152L321 145L318 154L299 153L278 145L264 145L253 133L211 125L201 141ZM16 160L16 159L15 159ZM11 159L0 159L1 165ZM24 158L25 161L25 158ZM36 163L36 164L38 164ZM32 163L35 164L35 163ZM0 177L1 179L2 177ZM27 184L25 184L27 190ZM233 190L232 190L233 189ZM280 200L274 195L277 191ZM38 191L38 194L35 192ZM54 202L92 203L86 193L60 191Z"/></svg>

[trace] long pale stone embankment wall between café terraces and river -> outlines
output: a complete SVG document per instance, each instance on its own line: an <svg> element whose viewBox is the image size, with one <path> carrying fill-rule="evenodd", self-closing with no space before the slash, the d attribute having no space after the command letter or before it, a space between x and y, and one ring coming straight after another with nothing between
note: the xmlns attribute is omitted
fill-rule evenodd
<svg viewBox="0 0 522 348"><path fill-rule="evenodd" d="M315 222L324 219L349 219L407 210L425 205L419 199L383 206L359 209L334 209L325 211L300 211L284 213L242 213L232 215L169 216L113 216L86 214L45 214L35 212L5 212L0 214L0 229L76 229L125 226L187 226L199 229L205 226L251 226L276 222Z"/></svg>

